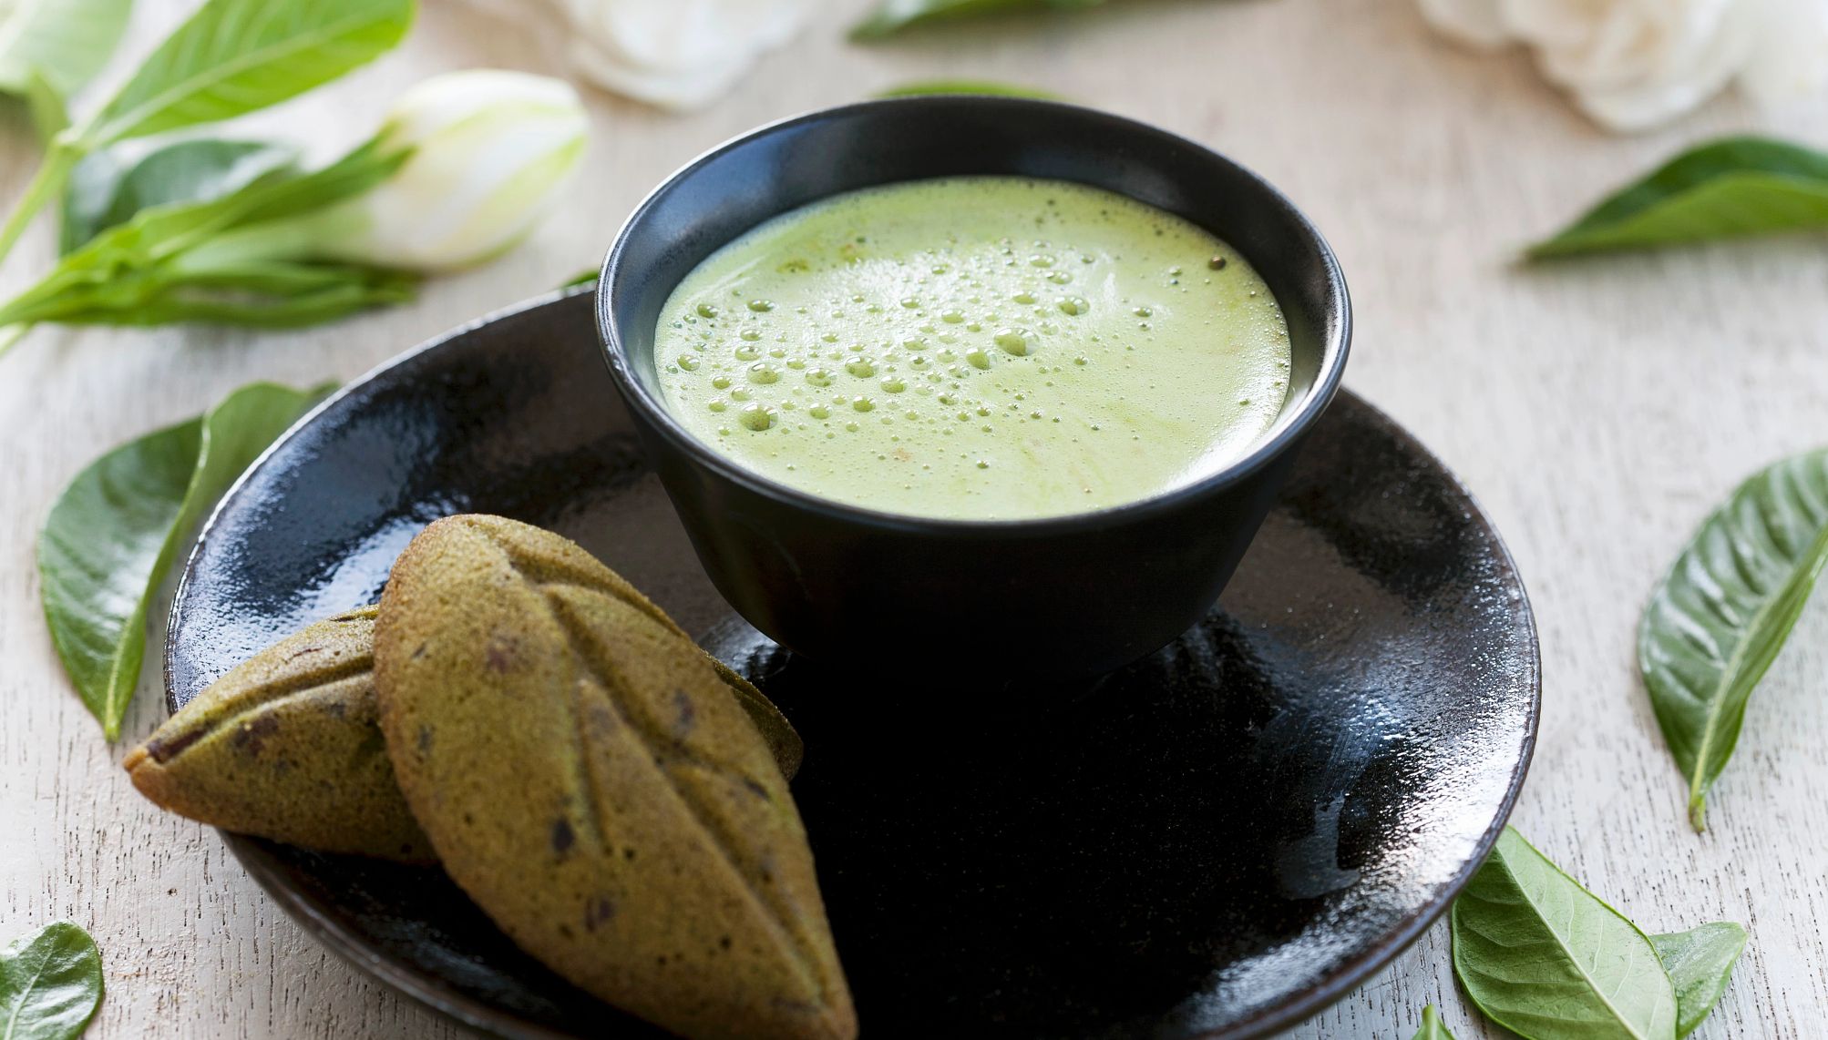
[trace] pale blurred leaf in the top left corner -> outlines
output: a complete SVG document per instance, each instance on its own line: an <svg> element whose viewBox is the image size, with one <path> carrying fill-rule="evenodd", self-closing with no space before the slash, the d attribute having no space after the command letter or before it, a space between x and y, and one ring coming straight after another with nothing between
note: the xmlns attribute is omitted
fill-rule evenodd
<svg viewBox="0 0 1828 1040"><path fill-rule="evenodd" d="M102 71L133 0L0 0L0 91L24 95L33 73L71 95Z"/></svg>

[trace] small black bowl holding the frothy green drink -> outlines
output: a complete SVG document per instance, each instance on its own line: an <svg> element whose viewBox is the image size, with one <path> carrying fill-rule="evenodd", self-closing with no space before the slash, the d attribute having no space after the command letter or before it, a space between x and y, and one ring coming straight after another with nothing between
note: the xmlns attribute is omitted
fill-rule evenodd
<svg viewBox="0 0 1828 1040"><path fill-rule="evenodd" d="M1201 225L1263 274L1289 320L1289 402L1227 470L1166 493L1033 521L943 521L841 504L770 481L667 411L660 311L751 227L857 188L947 175L1079 181ZM885 645L960 647L991 680L1091 676L1199 621L1287 481L1345 367L1351 302L1333 250L1276 188L1153 126L1002 97L916 97L815 111L687 164L629 218L603 263L611 373L718 592L779 643L872 665ZM960 589L971 589L962 596ZM958 663L914 653L896 671Z"/></svg>

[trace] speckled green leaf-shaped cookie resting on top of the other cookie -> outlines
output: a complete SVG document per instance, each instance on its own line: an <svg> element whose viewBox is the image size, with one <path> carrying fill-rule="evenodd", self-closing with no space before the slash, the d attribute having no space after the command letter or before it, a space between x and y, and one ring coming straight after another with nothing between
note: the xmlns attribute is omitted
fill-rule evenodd
<svg viewBox="0 0 1828 1040"><path fill-rule="evenodd" d="M400 790L523 949L695 1038L846 1038L856 1014L781 769L676 625L574 543L433 523L380 601Z"/></svg>

